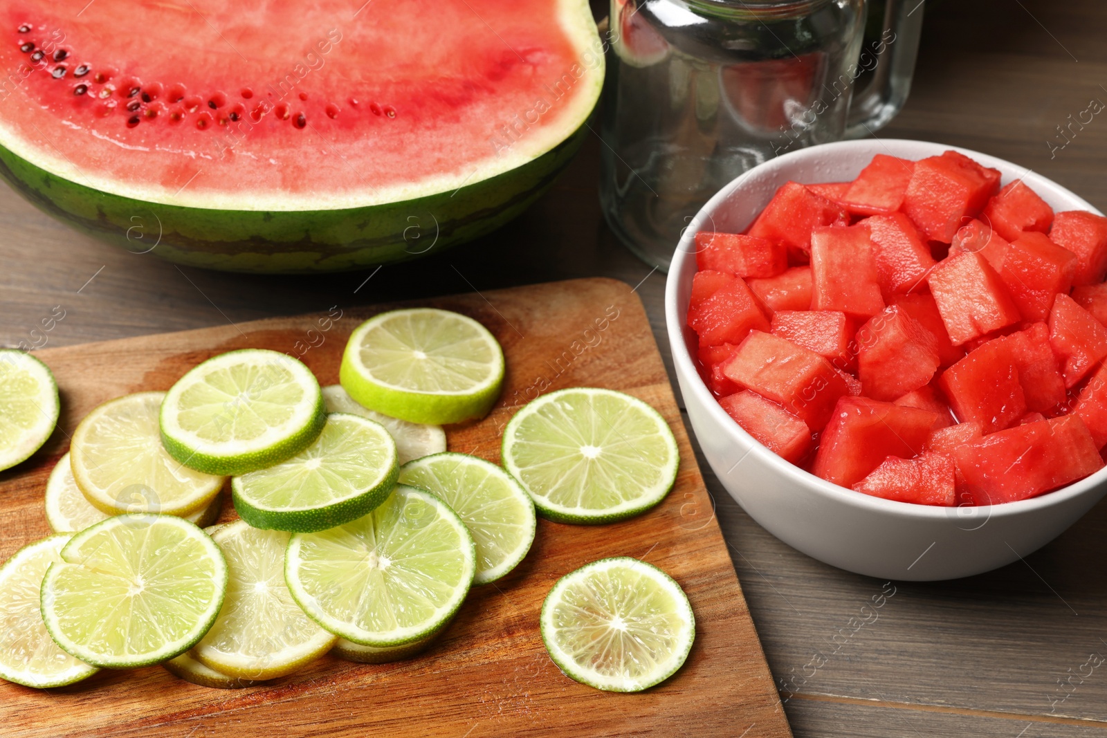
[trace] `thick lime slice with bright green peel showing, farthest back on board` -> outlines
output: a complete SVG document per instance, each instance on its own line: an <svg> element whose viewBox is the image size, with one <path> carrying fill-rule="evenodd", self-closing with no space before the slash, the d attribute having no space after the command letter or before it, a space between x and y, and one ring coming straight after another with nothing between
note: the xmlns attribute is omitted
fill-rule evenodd
<svg viewBox="0 0 1107 738"><path fill-rule="evenodd" d="M381 313L354 329L342 386L370 409L411 423L484 417L504 382L504 352L484 325L448 310Z"/></svg>

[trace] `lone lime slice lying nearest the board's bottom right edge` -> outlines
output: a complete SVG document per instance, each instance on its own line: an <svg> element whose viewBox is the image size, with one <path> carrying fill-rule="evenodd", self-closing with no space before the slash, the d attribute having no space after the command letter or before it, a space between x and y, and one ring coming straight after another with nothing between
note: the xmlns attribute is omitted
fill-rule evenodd
<svg viewBox="0 0 1107 738"><path fill-rule="evenodd" d="M562 672L610 692L664 682L695 640L692 605L680 584L629 557L594 561L559 579L540 623L546 649Z"/></svg>

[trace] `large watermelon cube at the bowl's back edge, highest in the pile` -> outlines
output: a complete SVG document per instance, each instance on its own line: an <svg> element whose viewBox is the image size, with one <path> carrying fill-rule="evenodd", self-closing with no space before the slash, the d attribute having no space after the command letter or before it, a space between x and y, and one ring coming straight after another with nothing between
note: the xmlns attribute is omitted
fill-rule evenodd
<svg viewBox="0 0 1107 738"><path fill-rule="evenodd" d="M914 163L902 210L923 236L949 243L964 218L981 211L1000 188L1000 171L958 152Z"/></svg>

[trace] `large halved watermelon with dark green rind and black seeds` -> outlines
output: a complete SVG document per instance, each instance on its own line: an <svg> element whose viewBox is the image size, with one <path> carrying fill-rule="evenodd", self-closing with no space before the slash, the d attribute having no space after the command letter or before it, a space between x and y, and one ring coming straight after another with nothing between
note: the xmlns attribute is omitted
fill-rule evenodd
<svg viewBox="0 0 1107 738"><path fill-rule="evenodd" d="M2 0L0 176L183 263L412 259L549 187L602 52L584 0Z"/></svg>

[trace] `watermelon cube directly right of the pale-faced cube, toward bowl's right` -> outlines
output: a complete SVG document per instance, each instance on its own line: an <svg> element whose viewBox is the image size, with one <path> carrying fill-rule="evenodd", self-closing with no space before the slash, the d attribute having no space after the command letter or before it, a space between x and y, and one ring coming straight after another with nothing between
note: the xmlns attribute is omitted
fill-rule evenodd
<svg viewBox="0 0 1107 738"><path fill-rule="evenodd" d="M1039 321L1049 316L1053 295L1068 293L1074 273L1076 254L1032 230L1011 242L1000 279L1023 319Z"/></svg>

